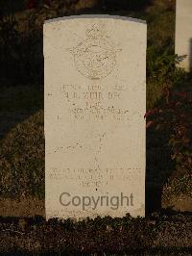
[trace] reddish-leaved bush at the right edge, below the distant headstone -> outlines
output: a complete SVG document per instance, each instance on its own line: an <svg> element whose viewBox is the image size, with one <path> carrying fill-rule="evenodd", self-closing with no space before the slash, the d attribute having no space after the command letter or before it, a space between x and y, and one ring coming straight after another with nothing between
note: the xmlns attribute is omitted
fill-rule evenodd
<svg viewBox="0 0 192 256"><path fill-rule="evenodd" d="M167 115L172 112L168 124L172 129L169 145L176 168L192 174L192 101L186 93L175 99L174 110L168 108Z"/></svg>

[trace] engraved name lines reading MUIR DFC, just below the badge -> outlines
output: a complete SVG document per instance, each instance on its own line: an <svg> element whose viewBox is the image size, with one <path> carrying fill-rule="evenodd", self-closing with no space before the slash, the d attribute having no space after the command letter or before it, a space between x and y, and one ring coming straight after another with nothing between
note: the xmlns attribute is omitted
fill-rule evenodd
<svg viewBox="0 0 192 256"><path fill-rule="evenodd" d="M75 119L107 120L111 118L116 121L130 120L129 109L115 106L115 102L122 99L122 91L105 91L97 85L87 86L85 89L78 85L63 85L61 93L64 100L72 103L69 104L69 113ZM84 100L84 105L82 102L79 104L78 100ZM104 102L111 103L106 106Z"/></svg>

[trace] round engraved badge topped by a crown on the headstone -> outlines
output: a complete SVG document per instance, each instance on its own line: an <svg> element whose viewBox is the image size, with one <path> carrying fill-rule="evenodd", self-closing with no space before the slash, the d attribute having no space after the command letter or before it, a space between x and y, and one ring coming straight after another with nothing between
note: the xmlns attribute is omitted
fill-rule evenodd
<svg viewBox="0 0 192 256"><path fill-rule="evenodd" d="M88 79L107 77L116 64L116 49L96 25L86 31L86 38L71 50L77 70Z"/></svg>

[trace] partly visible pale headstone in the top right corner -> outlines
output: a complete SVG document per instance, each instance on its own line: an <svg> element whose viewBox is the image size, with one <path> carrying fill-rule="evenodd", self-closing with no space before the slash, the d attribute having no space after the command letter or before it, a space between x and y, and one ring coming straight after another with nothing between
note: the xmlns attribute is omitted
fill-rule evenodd
<svg viewBox="0 0 192 256"><path fill-rule="evenodd" d="M192 1L177 0L176 54L181 58L180 67L192 68Z"/></svg>

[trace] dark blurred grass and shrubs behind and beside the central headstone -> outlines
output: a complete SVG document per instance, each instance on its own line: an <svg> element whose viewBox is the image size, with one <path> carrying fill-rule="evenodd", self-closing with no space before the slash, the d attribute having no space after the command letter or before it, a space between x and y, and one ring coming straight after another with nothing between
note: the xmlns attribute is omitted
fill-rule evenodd
<svg viewBox="0 0 192 256"><path fill-rule="evenodd" d="M42 26L82 13L147 21L147 186L163 191L177 178L181 189L170 193L191 195L192 76L176 66L174 0L0 0L0 6L2 196L44 196Z"/></svg>

